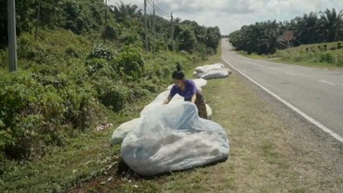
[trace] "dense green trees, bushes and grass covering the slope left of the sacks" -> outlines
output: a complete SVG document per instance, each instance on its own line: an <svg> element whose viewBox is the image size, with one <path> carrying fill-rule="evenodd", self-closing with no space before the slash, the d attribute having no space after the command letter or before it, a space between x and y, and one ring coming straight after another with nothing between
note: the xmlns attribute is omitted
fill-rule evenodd
<svg viewBox="0 0 343 193"><path fill-rule="evenodd" d="M165 89L176 64L188 69L214 54L220 39L218 27L177 18L172 49L171 23L156 16L153 58L152 16L145 53L136 5L44 0L35 40L38 2L16 3L19 69L9 73L7 1L0 0L1 192L64 192L105 174L119 159L119 147L108 146L111 131ZM105 123L113 127L94 130Z"/></svg>

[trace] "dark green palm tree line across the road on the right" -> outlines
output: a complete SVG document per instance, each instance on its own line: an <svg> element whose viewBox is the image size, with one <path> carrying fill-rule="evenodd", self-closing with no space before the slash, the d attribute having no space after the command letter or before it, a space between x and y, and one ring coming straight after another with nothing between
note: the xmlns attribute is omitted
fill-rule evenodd
<svg viewBox="0 0 343 193"><path fill-rule="evenodd" d="M286 48L284 31L294 34L291 46L343 40L343 10L310 12L283 22L256 22L231 32L229 38L236 49L248 54L272 54L276 49Z"/></svg>

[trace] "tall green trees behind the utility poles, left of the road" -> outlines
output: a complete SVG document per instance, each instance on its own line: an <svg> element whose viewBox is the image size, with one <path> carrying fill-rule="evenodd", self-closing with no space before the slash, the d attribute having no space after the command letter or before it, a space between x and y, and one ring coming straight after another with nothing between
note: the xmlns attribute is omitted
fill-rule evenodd
<svg viewBox="0 0 343 193"><path fill-rule="evenodd" d="M33 31L39 0L16 1L16 31ZM7 0L0 0L0 46L7 44ZM39 27L62 27L76 34L99 33L112 41L123 44L136 42L143 46L144 18L141 9L135 4L108 5L107 25L104 30L104 5L102 0L43 0L40 8ZM176 51L213 53L219 44L218 27L205 27L195 21L174 20L174 47ZM148 42L152 49L152 15L148 14ZM170 50L171 20L156 16L156 49ZM105 32L104 32L105 31ZM106 33L106 34L104 34ZM139 43L138 43L139 42Z"/></svg>

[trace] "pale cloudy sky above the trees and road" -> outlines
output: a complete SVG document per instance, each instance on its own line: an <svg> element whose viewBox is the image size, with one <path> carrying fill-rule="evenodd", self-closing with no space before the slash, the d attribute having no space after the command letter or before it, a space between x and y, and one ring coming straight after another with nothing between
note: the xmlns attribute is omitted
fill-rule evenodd
<svg viewBox="0 0 343 193"><path fill-rule="evenodd" d="M144 0L121 1L124 4L136 4L144 10ZM120 0L107 0L107 4L112 5L118 2ZM166 12L172 11L173 16L181 20L218 26L221 34L229 34L243 25L257 21L283 21L311 11L324 11L326 8L343 9L343 0L155 0L155 4ZM148 3L147 12L152 12Z"/></svg>

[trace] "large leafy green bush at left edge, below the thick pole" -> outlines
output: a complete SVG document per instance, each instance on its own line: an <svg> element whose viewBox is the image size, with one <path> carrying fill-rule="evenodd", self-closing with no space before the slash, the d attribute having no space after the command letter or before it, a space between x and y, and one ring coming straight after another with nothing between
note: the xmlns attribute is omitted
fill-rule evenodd
<svg viewBox="0 0 343 193"><path fill-rule="evenodd" d="M62 127L89 126L95 92L71 84L63 74L46 77L0 71L0 152L23 158L62 145ZM74 131L73 131L74 132Z"/></svg>

